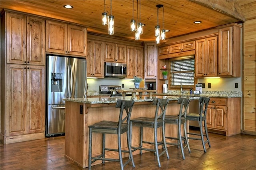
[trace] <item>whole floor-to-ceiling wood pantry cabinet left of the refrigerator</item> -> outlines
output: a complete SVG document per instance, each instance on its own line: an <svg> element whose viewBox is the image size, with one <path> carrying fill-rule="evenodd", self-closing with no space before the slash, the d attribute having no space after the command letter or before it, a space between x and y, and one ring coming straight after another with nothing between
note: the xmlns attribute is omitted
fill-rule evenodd
<svg viewBox="0 0 256 170"><path fill-rule="evenodd" d="M1 14L1 141L44 138L45 20Z"/></svg>

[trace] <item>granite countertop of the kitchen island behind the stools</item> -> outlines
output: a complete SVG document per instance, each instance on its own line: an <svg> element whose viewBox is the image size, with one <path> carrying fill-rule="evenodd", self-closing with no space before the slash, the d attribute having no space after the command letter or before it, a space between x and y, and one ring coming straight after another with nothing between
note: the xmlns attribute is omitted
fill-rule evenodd
<svg viewBox="0 0 256 170"><path fill-rule="evenodd" d="M160 95L155 96L158 98L165 99L167 96ZM72 98L72 99L63 99L64 101L71 101L71 102L77 102L77 103L88 103L88 104L102 104L102 103L116 103L118 99L125 99L130 100L131 96L123 97L88 97L88 98ZM178 101L178 96L168 96L169 101ZM199 99L199 97L189 97L190 99ZM150 102L153 101L153 98L149 97L135 97L135 102Z"/></svg>

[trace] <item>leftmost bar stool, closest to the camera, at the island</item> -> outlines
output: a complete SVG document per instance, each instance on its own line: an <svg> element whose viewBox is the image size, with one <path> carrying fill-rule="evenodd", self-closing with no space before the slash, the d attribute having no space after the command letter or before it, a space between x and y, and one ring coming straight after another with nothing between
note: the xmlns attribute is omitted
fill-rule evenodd
<svg viewBox="0 0 256 170"><path fill-rule="evenodd" d="M102 160L102 164L105 163L105 160L120 162L121 170L123 170L124 166L128 164L130 161L132 162L132 166L135 167L134 160L132 157L130 131L129 131L130 117L131 117L133 105L134 105L133 99L131 101L118 99L118 101L116 102L116 108L120 108L118 122L101 121L89 126L89 156L88 156L89 170L91 169L92 163L95 162L96 160ZM124 111L126 111L127 115L125 115L124 118L122 118ZM122 147L121 147L121 134L123 134L124 132L126 132L127 134L128 150L122 150ZM98 157L92 157L92 133L102 133L102 154L99 155ZM105 148L105 134L117 134L118 149ZM98 142L98 141L95 141L95 142ZM119 159L105 158L105 150L118 152ZM129 158L125 163L123 163L123 160L122 160L122 152L129 153Z"/></svg>

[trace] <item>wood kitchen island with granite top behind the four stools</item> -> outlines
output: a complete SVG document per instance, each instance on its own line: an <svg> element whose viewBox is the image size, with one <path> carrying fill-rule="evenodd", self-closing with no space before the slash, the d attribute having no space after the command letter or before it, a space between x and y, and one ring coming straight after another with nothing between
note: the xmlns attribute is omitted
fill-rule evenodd
<svg viewBox="0 0 256 170"><path fill-rule="evenodd" d="M166 98L166 96L155 96L158 98ZM190 97L198 99L198 97ZM117 109L116 101L123 97L95 97L95 98L79 98L64 99L66 102L66 123L65 123L65 156L83 168L88 166L88 126L96 122L118 121L120 110ZM125 97L130 100L131 97ZM166 110L167 115L176 115L179 110L177 104L178 96L168 96L169 105ZM155 106L152 105L152 98L135 97L134 107L132 110L132 118L136 117L154 117ZM132 146L139 144L139 127L132 129ZM144 140L153 141L153 129L144 128ZM158 136L160 132L158 131ZM166 125L166 136L177 136L177 127L175 125ZM102 135L93 134L92 136L92 156L101 154L102 152ZM127 149L126 135L121 135L122 149ZM146 144L146 147L154 147ZM117 137L114 134L106 135L106 147L117 148ZM139 154L139 150L133 152ZM127 157L128 154L124 154ZM118 152L106 151L106 157L118 158ZM94 164L100 164L96 161ZM93 164L93 165L94 165Z"/></svg>

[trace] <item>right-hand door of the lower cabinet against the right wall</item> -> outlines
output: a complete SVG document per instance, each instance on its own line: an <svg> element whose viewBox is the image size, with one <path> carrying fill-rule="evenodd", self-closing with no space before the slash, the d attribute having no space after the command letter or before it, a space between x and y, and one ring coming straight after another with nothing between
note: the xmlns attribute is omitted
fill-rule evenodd
<svg viewBox="0 0 256 170"><path fill-rule="evenodd" d="M226 106L215 106L214 128L226 130Z"/></svg>

